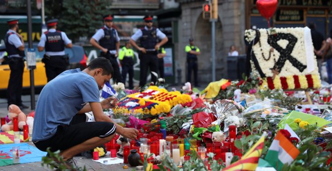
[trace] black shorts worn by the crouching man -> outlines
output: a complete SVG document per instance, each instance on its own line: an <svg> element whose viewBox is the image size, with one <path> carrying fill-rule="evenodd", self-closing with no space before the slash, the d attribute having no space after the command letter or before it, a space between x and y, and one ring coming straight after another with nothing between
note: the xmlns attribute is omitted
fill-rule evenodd
<svg viewBox="0 0 332 171"><path fill-rule="evenodd" d="M106 138L116 131L113 123L86 121L85 114L77 114L73 117L70 125L59 125L51 138L33 141L33 143L41 151L46 151L47 147L51 147L51 151L62 151L93 137Z"/></svg>

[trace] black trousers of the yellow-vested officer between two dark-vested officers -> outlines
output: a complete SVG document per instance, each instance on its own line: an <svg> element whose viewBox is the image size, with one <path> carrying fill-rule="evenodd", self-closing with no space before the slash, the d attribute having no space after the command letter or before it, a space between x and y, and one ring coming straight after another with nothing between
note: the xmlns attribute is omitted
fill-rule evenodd
<svg viewBox="0 0 332 171"><path fill-rule="evenodd" d="M127 73L129 74L129 89L134 88L133 78L134 78L134 61L131 57L124 57L121 61L122 66L122 79L123 83L126 82Z"/></svg>

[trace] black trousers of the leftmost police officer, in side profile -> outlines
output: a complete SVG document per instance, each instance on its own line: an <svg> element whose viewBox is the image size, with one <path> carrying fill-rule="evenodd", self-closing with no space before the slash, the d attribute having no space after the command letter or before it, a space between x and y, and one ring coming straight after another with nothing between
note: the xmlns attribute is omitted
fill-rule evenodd
<svg viewBox="0 0 332 171"><path fill-rule="evenodd" d="M8 88L7 88L7 100L9 105L22 105L22 87L23 87L23 71L24 61L21 57L9 58L9 68L11 74L9 77Z"/></svg>

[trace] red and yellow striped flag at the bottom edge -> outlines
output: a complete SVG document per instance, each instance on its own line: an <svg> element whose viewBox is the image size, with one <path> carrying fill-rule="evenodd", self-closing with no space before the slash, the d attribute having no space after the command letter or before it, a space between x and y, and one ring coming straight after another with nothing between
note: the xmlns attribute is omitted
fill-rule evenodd
<svg viewBox="0 0 332 171"><path fill-rule="evenodd" d="M266 132L263 133L262 137L256 142L256 144L247 151L240 160L234 162L233 164L225 167L223 170L255 170L260 156L262 155L262 150L264 147L264 139Z"/></svg>

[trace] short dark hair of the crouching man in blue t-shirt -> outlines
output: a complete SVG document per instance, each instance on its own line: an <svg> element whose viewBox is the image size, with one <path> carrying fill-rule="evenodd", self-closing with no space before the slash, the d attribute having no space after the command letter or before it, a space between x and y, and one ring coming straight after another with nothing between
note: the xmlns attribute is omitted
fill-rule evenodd
<svg viewBox="0 0 332 171"><path fill-rule="evenodd" d="M113 77L114 71L111 62L104 58L104 57L98 57L89 62L89 65L87 66L90 70L102 68L103 69L103 75L109 75L111 74Z"/></svg>

